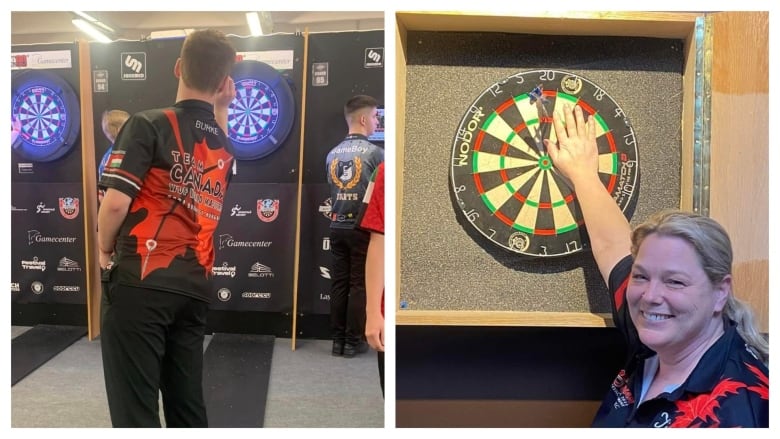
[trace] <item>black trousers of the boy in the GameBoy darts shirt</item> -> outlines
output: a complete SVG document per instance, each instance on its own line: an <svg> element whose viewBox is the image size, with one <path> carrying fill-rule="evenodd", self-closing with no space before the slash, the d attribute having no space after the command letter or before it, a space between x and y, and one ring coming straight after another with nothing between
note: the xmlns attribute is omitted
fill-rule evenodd
<svg viewBox="0 0 780 439"><path fill-rule="evenodd" d="M330 229L330 326L333 340L348 345L365 340L366 251L370 236L359 229Z"/></svg>

